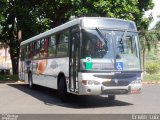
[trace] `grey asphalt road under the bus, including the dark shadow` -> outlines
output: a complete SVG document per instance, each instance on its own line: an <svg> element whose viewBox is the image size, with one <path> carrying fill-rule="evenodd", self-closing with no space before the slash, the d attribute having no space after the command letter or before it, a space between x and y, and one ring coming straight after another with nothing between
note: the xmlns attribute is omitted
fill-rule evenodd
<svg viewBox="0 0 160 120"><path fill-rule="evenodd" d="M71 96L63 103L57 91L26 84L0 84L0 113L6 114L148 114L160 113L160 85L144 85L141 94L119 95L114 102L106 96Z"/></svg>

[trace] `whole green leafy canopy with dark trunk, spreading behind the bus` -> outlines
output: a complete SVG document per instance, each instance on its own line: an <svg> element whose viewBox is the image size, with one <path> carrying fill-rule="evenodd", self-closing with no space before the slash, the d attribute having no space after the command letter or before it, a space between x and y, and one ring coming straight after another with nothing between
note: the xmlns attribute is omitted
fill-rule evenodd
<svg viewBox="0 0 160 120"><path fill-rule="evenodd" d="M19 44L22 41L69 20L70 16L101 16L134 20L138 29L146 29L144 12L152 0L1 0L3 12L1 41L10 47L13 74L18 73ZM0 8L1 9L1 8ZM148 19L147 19L148 20ZM146 20L146 21L147 21Z"/></svg>

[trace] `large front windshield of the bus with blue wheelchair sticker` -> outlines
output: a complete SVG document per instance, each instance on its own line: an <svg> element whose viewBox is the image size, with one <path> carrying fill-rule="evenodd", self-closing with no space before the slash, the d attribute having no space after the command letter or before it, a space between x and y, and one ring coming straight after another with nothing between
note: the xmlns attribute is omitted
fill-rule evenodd
<svg viewBox="0 0 160 120"><path fill-rule="evenodd" d="M82 34L82 70L140 70L137 33L101 29Z"/></svg>

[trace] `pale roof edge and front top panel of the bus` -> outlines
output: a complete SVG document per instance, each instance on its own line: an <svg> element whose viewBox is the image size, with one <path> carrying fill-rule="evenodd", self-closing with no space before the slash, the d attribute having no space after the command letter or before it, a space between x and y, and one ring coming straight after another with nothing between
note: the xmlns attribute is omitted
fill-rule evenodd
<svg viewBox="0 0 160 120"><path fill-rule="evenodd" d="M81 28L107 28L107 29L123 29L123 30L132 30L137 31L136 25L133 21L116 19L116 18L107 18L107 17L81 17L69 22L66 22L58 27L52 28L46 32L40 33L32 38L29 38L21 42L21 45L29 43L34 40L41 39L43 37L49 36L53 33L59 32L66 28L69 28L74 25L81 25Z"/></svg>

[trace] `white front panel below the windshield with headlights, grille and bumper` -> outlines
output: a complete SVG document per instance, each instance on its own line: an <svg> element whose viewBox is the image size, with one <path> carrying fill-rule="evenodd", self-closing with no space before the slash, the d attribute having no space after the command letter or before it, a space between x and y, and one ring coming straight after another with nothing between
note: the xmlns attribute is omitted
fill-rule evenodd
<svg viewBox="0 0 160 120"><path fill-rule="evenodd" d="M132 72L131 72L132 73ZM121 74L121 76L119 76ZM131 94L141 92L141 72L125 74L127 78L122 79L123 73L116 75L116 72L109 73L79 73L79 94L100 95L100 94ZM116 77L117 76L117 77ZM82 81L86 80L86 85Z"/></svg>

